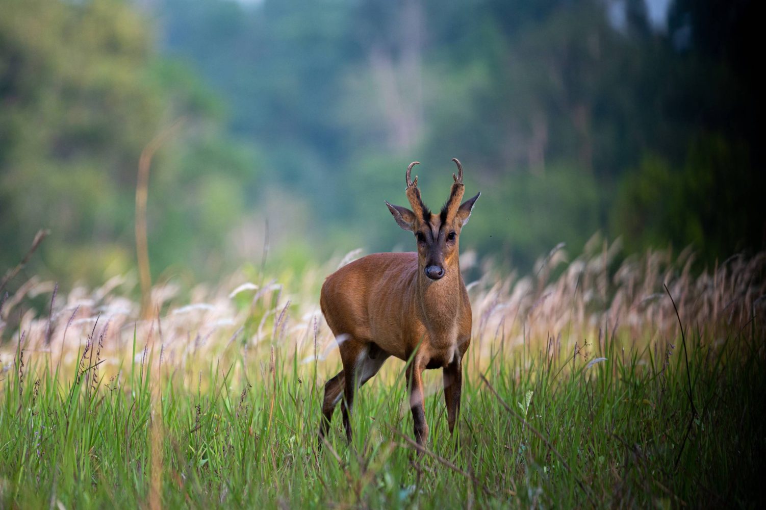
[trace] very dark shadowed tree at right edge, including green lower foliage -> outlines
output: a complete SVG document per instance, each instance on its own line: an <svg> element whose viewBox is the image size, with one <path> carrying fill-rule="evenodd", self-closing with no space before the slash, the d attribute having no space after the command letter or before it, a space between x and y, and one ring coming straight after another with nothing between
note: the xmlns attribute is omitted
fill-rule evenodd
<svg viewBox="0 0 766 510"><path fill-rule="evenodd" d="M766 247L756 5L677 0L670 8L660 126L678 134L654 140L664 157L644 159L620 187L613 231L628 247L691 244L702 263Z"/></svg>

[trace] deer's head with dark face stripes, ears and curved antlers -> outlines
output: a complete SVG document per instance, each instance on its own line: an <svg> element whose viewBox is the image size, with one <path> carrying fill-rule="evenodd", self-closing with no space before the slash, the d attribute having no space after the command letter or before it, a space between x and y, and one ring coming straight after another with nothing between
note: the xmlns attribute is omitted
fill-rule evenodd
<svg viewBox="0 0 766 510"><path fill-rule="evenodd" d="M407 167L405 192L412 210L385 203L399 226L415 234L419 266L431 280L440 280L447 271L457 270L460 230L468 223L473 204L481 195L476 193L476 196L460 204L465 191L463 165L460 165L457 159L453 158L452 161L457 165L457 175L452 175L454 183L450 190L450 198L447 198L447 203L439 214L431 213L423 203L421 191L417 189L417 175L414 181L410 179L412 167L420 165L419 162L412 162Z"/></svg>

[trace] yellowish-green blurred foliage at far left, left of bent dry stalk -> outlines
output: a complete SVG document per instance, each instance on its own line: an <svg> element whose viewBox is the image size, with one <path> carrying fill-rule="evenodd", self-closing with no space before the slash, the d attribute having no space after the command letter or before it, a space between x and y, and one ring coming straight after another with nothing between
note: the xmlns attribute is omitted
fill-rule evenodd
<svg viewBox="0 0 766 510"><path fill-rule="evenodd" d="M2 265L42 227L64 250L113 243L130 227L120 188L162 110L144 67L151 41L142 20L123 2L11 1L3 11ZM103 270L109 260L90 251L86 264Z"/></svg>

